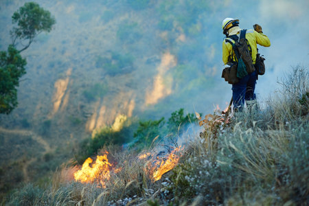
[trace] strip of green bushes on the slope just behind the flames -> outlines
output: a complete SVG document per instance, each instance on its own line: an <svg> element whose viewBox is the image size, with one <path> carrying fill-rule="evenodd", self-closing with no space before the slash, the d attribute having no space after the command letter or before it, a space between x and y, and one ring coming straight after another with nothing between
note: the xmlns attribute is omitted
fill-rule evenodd
<svg viewBox="0 0 309 206"><path fill-rule="evenodd" d="M98 154L105 146L124 146L129 150L140 152L145 148L153 148L154 141L160 142L165 137L176 138L176 134L183 133L194 119L193 114L184 115L184 109L174 111L165 124L164 117L159 120L137 121L126 119L120 130L113 126L106 126L98 130L92 138L82 141L76 157L82 162L87 157Z"/></svg>

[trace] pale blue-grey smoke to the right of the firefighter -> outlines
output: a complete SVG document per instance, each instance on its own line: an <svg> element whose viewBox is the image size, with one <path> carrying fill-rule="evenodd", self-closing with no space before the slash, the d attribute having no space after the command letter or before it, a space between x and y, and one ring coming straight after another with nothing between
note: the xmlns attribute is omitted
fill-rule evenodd
<svg viewBox="0 0 309 206"><path fill-rule="evenodd" d="M308 68L309 27L307 26L308 1L258 1L238 9L242 1L230 1L231 17L240 19L240 27L252 29L252 25L262 25L263 32L270 38L271 47L258 46L266 58L266 73L260 76L256 86L258 100L264 101L279 87L277 80L297 65ZM244 8L244 7L242 7Z"/></svg>

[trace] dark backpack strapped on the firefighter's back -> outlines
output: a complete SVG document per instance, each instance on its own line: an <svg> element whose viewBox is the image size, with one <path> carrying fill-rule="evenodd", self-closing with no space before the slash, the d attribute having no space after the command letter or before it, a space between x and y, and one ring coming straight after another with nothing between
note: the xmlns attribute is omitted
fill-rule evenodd
<svg viewBox="0 0 309 206"><path fill-rule="evenodd" d="M241 30L239 38L237 35L229 36L229 38L233 39L235 43L230 41L228 38L225 38L225 41L232 45L233 52L236 55L236 62L232 62L237 64L237 77L240 79L244 76L247 76L248 73L252 73L253 71L255 71L250 52L251 47L249 43L247 43L247 39L245 38L246 32L247 30Z"/></svg>

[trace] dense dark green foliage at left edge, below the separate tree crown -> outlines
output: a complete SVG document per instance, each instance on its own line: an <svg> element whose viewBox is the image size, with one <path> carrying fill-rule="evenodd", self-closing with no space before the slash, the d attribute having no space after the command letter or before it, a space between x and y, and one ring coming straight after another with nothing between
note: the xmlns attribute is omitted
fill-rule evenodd
<svg viewBox="0 0 309 206"><path fill-rule="evenodd" d="M10 45L8 52L0 52L0 113L10 113L16 108L19 79L23 76L27 62Z"/></svg>

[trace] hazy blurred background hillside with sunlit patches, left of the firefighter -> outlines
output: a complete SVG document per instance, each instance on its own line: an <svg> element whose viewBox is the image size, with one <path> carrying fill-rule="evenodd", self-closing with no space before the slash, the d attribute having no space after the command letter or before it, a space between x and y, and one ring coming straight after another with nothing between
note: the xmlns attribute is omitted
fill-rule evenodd
<svg viewBox="0 0 309 206"><path fill-rule="evenodd" d="M10 16L24 2L1 3L3 50L10 44ZM117 117L157 119L177 108L192 112L202 105L198 99L207 103L203 96L213 101L207 87L220 77L214 54L207 54L214 52L214 46L211 51L205 47L213 42L203 36L206 27L202 25L203 15L211 10L213 14L218 5L205 3L199 8L187 1L144 1L141 7L130 1L38 3L54 15L56 25L23 52L28 64L18 90L19 106L10 115L0 115L1 148L18 150L16 155L5 153L1 168L8 173L20 168L30 171L19 171L12 177L16 180L3 183L6 186L1 191L55 170L64 159L72 158L72 148L82 139L113 125ZM191 10L183 14L186 6ZM184 96L195 99L196 105L183 102ZM46 152L36 137L42 137L51 150ZM20 142L25 142L22 149ZM24 163L31 166L25 169Z"/></svg>

